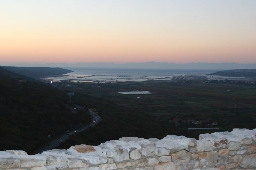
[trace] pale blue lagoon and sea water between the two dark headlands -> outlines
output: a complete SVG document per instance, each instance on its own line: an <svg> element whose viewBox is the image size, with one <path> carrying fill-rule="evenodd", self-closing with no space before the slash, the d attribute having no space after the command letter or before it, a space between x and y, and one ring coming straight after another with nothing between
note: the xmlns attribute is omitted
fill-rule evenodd
<svg viewBox="0 0 256 170"><path fill-rule="evenodd" d="M44 78L50 81L71 82L127 82L147 80L170 80L175 75L206 75L216 70L184 70L184 69L98 69L68 68L72 73L57 77Z"/></svg>

